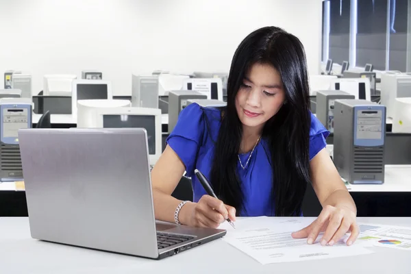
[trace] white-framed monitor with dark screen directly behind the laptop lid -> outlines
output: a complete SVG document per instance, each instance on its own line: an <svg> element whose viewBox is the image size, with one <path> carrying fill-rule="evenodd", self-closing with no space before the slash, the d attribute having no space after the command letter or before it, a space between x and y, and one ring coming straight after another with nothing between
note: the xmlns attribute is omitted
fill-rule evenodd
<svg viewBox="0 0 411 274"><path fill-rule="evenodd" d="M161 110L155 108L101 108L96 111L99 128L142 127L147 131L150 165L162 153Z"/></svg>

